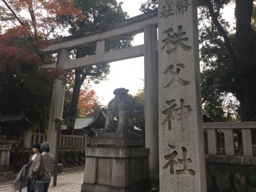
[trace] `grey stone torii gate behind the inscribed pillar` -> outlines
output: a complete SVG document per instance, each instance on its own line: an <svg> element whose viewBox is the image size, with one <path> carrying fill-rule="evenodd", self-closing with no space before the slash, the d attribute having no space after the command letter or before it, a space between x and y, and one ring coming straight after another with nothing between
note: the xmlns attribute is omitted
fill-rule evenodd
<svg viewBox="0 0 256 192"><path fill-rule="evenodd" d="M106 41L118 38L121 35L135 35L144 32L144 45L106 51ZM68 60L68 53L72 49L96 44L96 54ZM106 26L98 33L80 34L51 40L44 49L45 54L58 52L56 64L47 67L74 69L97 63L127 60L144 56L145 58L145 127L146 147L150 148L150 171L152 180L159 180L159 147L158 147L158 73L157 73L157 12L139 15L113 26ZM51 113L49 118L49 132L47 141L50 143L52 154L56 154L56 132L54 123L57 117L62 117L65 97L65 84L60 79L54 83L52 92Z"/></svg>

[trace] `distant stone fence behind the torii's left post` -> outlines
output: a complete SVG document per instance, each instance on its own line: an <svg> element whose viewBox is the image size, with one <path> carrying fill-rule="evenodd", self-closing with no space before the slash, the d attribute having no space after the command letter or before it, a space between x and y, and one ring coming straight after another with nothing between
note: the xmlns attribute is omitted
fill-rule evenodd
<svg viewBox="0 0 256 192"><path fill-rule="evenodd" d="M32 131L26 131L24 135L24 148L31 148L31 145L36 143L43 143L47 139L45 133L33 133ZM61 134L60 149L84 149L87 143L86 135L64 135Z"/></svg>

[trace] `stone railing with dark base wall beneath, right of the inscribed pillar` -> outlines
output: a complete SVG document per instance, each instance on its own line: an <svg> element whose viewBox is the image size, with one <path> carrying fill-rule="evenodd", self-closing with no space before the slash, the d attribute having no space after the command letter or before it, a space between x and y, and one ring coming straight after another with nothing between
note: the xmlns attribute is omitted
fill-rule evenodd
<svg viewBox="0 0 256 192"><path fill-rule="evenodd" d="M256 122L203 126L207 191L256 192Z"/></svg>

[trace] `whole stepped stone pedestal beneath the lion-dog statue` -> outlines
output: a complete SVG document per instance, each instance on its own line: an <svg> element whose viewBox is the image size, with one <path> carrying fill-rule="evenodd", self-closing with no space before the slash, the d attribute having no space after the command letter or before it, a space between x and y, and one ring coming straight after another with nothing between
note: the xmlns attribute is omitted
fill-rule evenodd
<svg viewBox="0 0 256 192"><path fill-rule="evenodd" d="M82 192L150 190L149 149L143 148L143 142L136 134L98 132L93 147L85 150Z"/></svg>

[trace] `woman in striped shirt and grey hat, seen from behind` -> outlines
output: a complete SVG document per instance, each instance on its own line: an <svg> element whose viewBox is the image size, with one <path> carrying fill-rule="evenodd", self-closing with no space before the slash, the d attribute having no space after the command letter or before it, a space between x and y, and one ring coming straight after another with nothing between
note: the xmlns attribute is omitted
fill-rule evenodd
<svg viewBox="0 0 256 192"><path fill-rule="evenodd" d="M36 191L47 192L49 184L51 182L51 175L53 170L53 156L50 154L49 143L44 142L40 146L42 154L36 158L35 168L31 170L32 173L38 172L40 164L43 164L44 176L41 179L36 180ZM42 159L42 160L41 160ZM42 166L41 166L42 167Z"/></svg>

